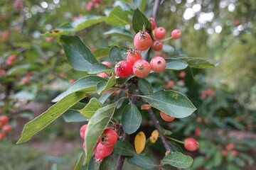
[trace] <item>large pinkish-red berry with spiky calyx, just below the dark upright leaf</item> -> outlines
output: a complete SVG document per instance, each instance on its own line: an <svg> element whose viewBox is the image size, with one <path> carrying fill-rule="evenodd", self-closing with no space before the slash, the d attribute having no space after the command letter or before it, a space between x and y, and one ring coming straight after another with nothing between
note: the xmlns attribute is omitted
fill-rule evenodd
<svg viewBox="0 0 256 170"><path fill-rule="evenodd" d="M148 49L152 44L152 39L149 33L146 32L139 32L134 37L134 47L138 50L144 51Z"/></svg>

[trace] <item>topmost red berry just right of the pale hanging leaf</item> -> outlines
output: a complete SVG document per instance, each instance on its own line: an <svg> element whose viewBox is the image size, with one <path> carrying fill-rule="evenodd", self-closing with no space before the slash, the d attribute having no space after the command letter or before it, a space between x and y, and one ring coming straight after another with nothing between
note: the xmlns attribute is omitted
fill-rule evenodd
<svg viewBox="0 0 256 170"><path fill-rule="evenodd" d="M117 132L112 130L112 129L106 129L102 133L101 137L101 144L104 145L105 147L113 147L114 144L117 142Z"/></svg>

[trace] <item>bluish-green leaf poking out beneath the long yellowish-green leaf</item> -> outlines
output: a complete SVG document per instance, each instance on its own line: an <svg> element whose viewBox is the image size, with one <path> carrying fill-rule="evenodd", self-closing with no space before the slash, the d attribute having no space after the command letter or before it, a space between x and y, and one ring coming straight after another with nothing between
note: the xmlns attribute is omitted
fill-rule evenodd
<svg viewBox="0 0 256 170"><path fill-rule="evenodd" d="M66 123L84 122L88 119L85 116L81 115L81 113L79 113L78 111L74 111L74 110L65 111L65 113L63 113L63 118Z"/></svg>

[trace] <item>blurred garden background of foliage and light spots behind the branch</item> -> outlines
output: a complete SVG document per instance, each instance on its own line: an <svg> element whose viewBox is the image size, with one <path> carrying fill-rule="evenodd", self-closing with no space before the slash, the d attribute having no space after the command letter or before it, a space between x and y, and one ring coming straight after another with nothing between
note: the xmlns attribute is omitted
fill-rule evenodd
<svg viewBox="0 0 256 170"><path fill-rule="evenodd" d="M133 6L143 2L149 17L154 1L132 1ZM66 123L61 117L31 141L15 143L25 123L46 111L51 99L73 80L86 75L68 65L58 37L46 38L43 33L83 16L107 16L113 6L132 8L129 1L1 0L0 115L7 115L12 127L0 140L1 170L73 169L75 157L82 152L83 123ZM166 42L168 49L156 55L198 57L218 64L149 77L155 89L181 91L198 108L188 118L160 121L172 130L172 137L195 137L200 142L197 152L186 152L194 158L191 169L256 169L255 20L255 0L171 0L159 5L157 25L166 28L167 35L179 28L183 36ZM131 39L111 30L112 26L97 23L74 34L92 51L117 44L132 46ZM150 135L154 130L150 125L144 118L140 130ZM164 153L159 148L161 141L149 148L156 162ZM131 168L139 169L126 164L126 169Z"/></svg>

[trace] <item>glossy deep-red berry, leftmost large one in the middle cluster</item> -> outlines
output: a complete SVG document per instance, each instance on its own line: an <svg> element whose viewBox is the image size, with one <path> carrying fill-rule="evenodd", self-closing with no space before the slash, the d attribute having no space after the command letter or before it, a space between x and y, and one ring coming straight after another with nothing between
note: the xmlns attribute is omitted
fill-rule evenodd
<svg viewBox="0 0 256 170"><path fill-rule="evenodd" d="M114 67L117 76L125 78L132 75L132 64L127 61L120 61Z"/></svg>

